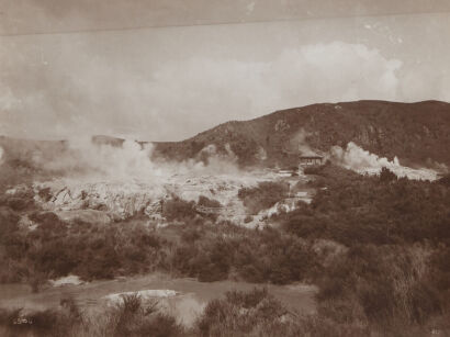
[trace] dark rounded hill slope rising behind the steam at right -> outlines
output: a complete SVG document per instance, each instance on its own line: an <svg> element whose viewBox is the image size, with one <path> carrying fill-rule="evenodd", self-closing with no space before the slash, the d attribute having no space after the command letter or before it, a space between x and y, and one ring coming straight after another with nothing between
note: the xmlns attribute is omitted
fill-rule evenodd
<svg viewBox="0 0 450 337"><path fill-rule="evenodd" d="M155 143L155 156L183 160L215 145L220 153L230 148L243 166L290 165L307 146L325 153L349 142L390 159L397 156L405 164L450 165L450 104L358 101L288 109L227 122L183 142Z"/></svg>

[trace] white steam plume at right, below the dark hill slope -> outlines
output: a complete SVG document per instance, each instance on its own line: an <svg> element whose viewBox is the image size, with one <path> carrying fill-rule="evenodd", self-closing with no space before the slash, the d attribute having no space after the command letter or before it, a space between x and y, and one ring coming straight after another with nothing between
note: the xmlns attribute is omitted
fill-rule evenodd
<svg viewBox="0 0 450 337"><path fill-rule="evenodd" d="M347 169L359 173L378 175L383 167L389 168L397 177L406 177L413 180L436 180L437 171L428 168L414 169L402 166L395 157L392 161L384 157L364 150L350 142L346 148L334 146L330 149L330 159Z"/></svg>

